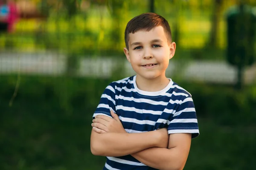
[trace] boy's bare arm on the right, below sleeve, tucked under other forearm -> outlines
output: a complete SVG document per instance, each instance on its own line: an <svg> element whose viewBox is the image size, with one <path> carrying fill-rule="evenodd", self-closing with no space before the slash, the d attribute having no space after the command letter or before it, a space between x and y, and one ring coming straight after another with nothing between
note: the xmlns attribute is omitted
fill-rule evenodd
<svg viewBox="0 0 256 170"><path fill-rule="evenodd" d="M189 155L190 144L190 133L174 133L169 135L167 149L152 147L131 156L159 170L182 170Z"/></svg>

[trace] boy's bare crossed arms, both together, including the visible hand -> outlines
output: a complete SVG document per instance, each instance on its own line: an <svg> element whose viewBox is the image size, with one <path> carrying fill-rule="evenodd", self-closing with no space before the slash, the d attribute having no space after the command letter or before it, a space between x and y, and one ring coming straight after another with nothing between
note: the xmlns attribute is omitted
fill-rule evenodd
<svg viewBox="0 0 256 170"><path fill-rule="evenodd" d="M167 129L127 133L118 116L97 115L93 119L90 148L97 156L131 155L143 164L159 170L182 170L191 144L191 134Z"/></svg>

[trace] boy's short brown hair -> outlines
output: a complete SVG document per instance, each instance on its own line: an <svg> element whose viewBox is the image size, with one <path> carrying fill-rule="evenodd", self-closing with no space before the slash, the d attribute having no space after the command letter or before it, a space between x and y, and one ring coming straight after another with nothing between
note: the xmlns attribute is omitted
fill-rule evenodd
<svg viewBox="0 0 256 170"><path fill-rule="evenodd" d="M134 34L137 31L145 30L150 31L152 28L162 26L164 31L166 32L167 40L172 42L172 32L169 26L168 21L155 13L144 13L140 14L137 17L131 19L125 28L125 45L129 50L129 34Z"/></svg>

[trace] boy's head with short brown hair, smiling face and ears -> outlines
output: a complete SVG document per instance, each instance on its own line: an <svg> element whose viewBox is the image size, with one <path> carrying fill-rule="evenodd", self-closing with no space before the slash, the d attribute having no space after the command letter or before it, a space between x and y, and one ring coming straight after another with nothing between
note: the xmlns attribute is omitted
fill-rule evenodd
<svg viewBox="0 0 256 170"><path fill-rule="evenodd" d="M166 79L169 59L176 49L166 19L154 13L134 17L125 28L125 44L126 58L138 78Z"/></svg>

